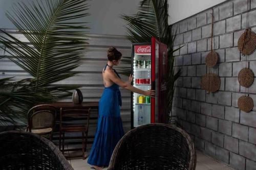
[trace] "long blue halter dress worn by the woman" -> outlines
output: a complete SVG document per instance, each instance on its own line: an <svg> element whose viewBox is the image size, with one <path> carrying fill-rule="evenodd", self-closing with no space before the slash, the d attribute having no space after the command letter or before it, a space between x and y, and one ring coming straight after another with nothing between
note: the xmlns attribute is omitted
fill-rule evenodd
<svg viewBox="0 0 256 170"><path fill-rule="evenodd" d="M109 65L107 64L106 66ZM115 69L114 71L120 78ZM88 159L89 164L109 166L110 158L116 144L124 135L120 117L121 105L122 101L119 86L113 84L110 87L105 87L99 101L98 125Z"/></svg>

